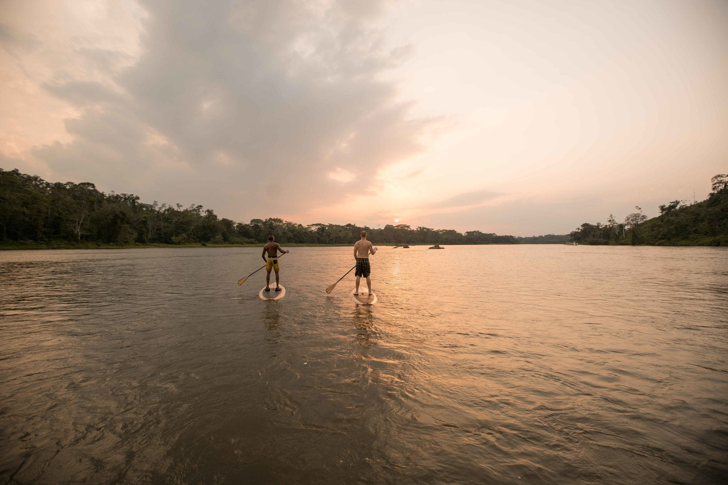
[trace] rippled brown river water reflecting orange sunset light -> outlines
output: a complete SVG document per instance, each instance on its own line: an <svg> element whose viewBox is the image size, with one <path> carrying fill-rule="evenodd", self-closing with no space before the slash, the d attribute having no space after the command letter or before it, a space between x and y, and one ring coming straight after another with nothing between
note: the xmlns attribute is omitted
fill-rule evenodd
<svg viewBox="0 0 728 485"><path fill-rule="evenodd" d="M0 483L725 483L726 249L290 249L0 252Z"/></svg>

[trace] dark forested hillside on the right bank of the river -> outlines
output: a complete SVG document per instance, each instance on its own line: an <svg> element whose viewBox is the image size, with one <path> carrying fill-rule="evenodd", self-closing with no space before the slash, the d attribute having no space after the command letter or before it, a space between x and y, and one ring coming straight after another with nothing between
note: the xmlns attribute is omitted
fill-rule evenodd
<svg viewBox="0 0 728 485"><path fill-rule="evenodd" d="M647 219L641 207L617 223L584 223L571 232L579 244L654 244L657 246L728 246L728 175L711 179L708 199L697 204L675 200Z"/></svg>

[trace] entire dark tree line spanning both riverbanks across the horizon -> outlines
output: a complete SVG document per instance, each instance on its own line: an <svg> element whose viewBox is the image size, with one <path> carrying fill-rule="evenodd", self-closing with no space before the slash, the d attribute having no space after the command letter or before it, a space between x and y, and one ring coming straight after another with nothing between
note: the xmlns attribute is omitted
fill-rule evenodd
<svg viewBox="0 0 728 485"><path fill-rule="evenodd" d="M0 169L0 250L130 249L154 247L261 246L274 234L285 246L348 246L367 231L381 246L440 244L649 244L728 246L728 175L712 179L708 199L660 206L647 220L640 207L617 223L584 223L570 234L509 236L481 231L411 228L387 224L301 225L276 217L236 223L201 205L183 208L141 202L139 196L103 193L92 183L50 183L17 169ZM381 243L379 241L390 241Z"/></svg>

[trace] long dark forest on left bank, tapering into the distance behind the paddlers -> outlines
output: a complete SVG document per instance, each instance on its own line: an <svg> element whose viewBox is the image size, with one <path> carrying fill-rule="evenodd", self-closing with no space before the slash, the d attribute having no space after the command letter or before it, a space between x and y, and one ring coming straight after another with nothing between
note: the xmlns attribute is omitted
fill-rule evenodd
<svg viewBox="0 0 728 485"><path fill-rule="evenodd" d="M0 169L0 245L258 244L274 234L282 244L350 244L360 231L380 244L518 244L564 242L569 236L515 238L452 229L384 228L354 224L301 225L282 219L236 223L199 205L144 204L127 193L103 193L92 183L50 183Z"/></svg>

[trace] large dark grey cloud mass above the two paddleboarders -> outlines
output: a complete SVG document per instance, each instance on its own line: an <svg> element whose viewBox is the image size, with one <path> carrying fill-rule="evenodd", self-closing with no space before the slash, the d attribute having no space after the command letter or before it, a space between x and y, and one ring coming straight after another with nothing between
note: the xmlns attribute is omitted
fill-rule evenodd
<svg viewBox="0 0 728 485"><path fill-rule="evenodd" d="M113 78L125 95L89 79L47 84L86 108L66 123L73 143L35 153L109 190L149 188L241 220L374 190L376 170L421 150L433 123L411 119L395 84L378 80L410 54L384 47L384 4L143 2L143 54ZM331 180L336 167L354 180Z"/></svg>

